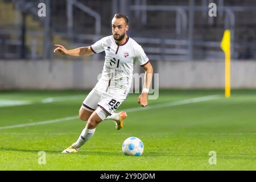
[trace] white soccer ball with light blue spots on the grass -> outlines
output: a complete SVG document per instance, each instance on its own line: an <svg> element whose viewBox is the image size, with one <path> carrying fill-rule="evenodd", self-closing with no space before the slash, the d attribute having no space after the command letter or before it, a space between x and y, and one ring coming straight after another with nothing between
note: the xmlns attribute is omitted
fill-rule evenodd
<svg viewBox="0 0 256 182"><path fill-rule="evenodd" d="M127 138L122 145L122 151L125 155L141 156L144 150L142 141L137 137Z"/></svg>

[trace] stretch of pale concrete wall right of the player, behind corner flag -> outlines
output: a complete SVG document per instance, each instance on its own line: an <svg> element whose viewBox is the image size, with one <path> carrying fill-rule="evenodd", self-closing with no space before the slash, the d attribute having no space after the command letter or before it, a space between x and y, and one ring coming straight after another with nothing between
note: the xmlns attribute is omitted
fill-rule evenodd
<svg viewBox="0 0 256 182"><path fill-rule="evenodd" d="M225 61L158 62L160 88L224 88ZM232 88L256 88L256 61L232 61Z"/></svg>

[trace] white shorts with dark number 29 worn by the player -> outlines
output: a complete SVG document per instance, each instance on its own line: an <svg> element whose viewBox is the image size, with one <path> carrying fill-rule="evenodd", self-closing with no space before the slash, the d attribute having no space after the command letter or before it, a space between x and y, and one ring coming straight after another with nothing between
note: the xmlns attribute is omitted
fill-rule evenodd
<svg viewBox="0 0 256 182"><path fill-rule="evenodd" d="M123 101L106 92L93 89L82 102L82 108L91 112L96 111L98 116L104 120L108 115L112 115Z"/></svg>

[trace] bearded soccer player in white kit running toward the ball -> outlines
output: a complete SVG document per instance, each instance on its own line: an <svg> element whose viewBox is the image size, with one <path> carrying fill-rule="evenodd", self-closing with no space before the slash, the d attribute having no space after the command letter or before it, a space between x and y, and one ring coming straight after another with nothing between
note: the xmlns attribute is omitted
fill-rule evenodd
<svg viewBox="0 0 256 182"><path fill-rule="evenodd" d="M115 113L126 99L133 78L134 64L141 65L145 71L144 85L138 103L147 106L148 89L152 81L153 68L143 49L135 40L127 36L129 19L126 15L115 14L112 19L113 35L106 36L92 46L67 50L59 44L54 52L69 56L89 56L105 51L105 63L102 76L96 86L85 98L79 111L82 121L87 121L80 137L63 153L78 152L94 134L98 124L104 119L113 119L117 130L123 127L125 111Z"/></svg>

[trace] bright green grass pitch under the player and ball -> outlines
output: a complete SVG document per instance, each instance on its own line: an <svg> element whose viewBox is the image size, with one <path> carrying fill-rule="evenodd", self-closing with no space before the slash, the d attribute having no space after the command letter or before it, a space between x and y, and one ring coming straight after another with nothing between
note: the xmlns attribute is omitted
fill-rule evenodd
<svg viewBox="0 0 256 182"><path fill-rule="evenodd" d="M86 94L0 92L0 170L256 170L256 90L233 90L229 99L222 90L160 90L158 100L149 101L156 107L128 112L119 131L113 121L103 121L77 154L61 151L85 127L78 118L3 128L78 115ZM168 105L216 94L212 100ZM137 97L130 94L118 110L139 107ZM128 137L142 140L142 156L122 154ZM46 152L46 164L38 163L39 151ZM209 164L209 151L216 152L216 164Z"/></svg>

